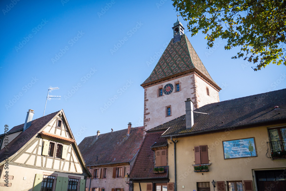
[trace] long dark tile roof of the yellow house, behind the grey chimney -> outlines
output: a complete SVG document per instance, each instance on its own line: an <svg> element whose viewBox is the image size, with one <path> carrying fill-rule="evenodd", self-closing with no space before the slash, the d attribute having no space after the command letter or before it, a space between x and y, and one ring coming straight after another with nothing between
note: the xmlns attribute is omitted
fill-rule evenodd
<svg viewBox="0 0 286 191"><path fill-rule="evenodd" d="M280 109L274 109L279 106ZM204 105L194 111L194 125L186 129L185 115L154 127L147 132L168 129L166 135L203 133L228 127L250 127L255 123L286 121L286 89Z"/></svg>

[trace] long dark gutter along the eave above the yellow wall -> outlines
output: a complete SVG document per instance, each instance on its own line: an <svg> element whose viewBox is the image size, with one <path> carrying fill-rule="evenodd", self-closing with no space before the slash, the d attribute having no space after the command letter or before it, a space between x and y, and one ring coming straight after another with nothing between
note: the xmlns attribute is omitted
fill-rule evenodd
<svg viewBox="0 0 286 191"><path fill-rule="evenodd" d="M285 120L285 118L283 118ZM230 126L230 127L223 127L219 129L209 129L209 130L204 130L204 131L196 131L196 132L190 132L190 133L182 133L182 134L172 134L172 135L164 135L162 137L170 137L172 139L172 136L176 137L183 137L183 136L188 136L188 135L198 135L198 134L207 134L207 133L213 133L213 132L221 132L223 130L235 130L236 128L247 128L247 126L255 126L255 125L266 125L266 123L271 123L275 121L281 121L284 122L283 119L275 119L271 121L265 121L265 122L256 122L256 123L247 123L245 125L235 125L235 126ZM234 129L232 129L234 128Z"/></svg>

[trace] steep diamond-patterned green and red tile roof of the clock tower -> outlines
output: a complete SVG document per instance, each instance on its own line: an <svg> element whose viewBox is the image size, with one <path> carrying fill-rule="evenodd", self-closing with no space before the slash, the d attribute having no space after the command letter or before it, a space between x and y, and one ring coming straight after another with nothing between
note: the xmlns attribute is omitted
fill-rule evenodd
<svg viewBox="0 0 286 191"><path fill-rule="evenodd" d="M173 42L173 39L170 41L151 75L141 84L141 86L192 69L197 69L210 82L217 85L210 77L210 74L204 67L204 64L202 64L198 54L184 34L181 36L180 41L175 43Z"/></svg>

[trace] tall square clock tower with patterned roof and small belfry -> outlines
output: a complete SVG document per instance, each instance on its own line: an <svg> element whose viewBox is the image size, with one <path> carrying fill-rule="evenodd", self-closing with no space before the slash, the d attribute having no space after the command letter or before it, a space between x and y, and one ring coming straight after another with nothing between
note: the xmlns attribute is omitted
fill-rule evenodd
<svg viewBox="0 0 286 191"><path fill-rule="evenodd" d="M194 102L193 109L219 102L221 88L202 64L179 19L172 29L174 38L141 84L145 131L184 115L187 98Z"/></svg>

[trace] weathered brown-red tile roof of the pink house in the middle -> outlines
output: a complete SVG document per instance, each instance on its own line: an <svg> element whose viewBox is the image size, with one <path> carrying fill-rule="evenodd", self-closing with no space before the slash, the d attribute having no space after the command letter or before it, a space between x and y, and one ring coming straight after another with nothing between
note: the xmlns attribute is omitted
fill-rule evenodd
<svg viewBox="0 0 286 191"><path fill-rule="evenodd" d="M78 145L86 165L102 165L130 162L143 142L144 127L85 137Z"/></svg>

